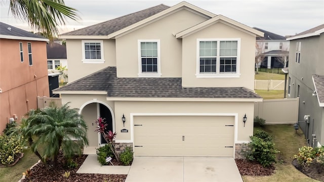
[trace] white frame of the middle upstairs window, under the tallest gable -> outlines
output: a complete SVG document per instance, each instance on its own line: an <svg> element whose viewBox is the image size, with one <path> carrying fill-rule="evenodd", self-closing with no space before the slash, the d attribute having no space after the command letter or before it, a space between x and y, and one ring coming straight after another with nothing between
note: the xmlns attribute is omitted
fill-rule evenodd
<svg viewBox="0 0 324 182"><path fill-rule="evenodd" d="M142 72L142 55L141 42L157 42L157 73L143 73ZM138 77L161 77L161 54L160 54L160 40L159 39L139 39L137 40L138 50Z"/></svg>

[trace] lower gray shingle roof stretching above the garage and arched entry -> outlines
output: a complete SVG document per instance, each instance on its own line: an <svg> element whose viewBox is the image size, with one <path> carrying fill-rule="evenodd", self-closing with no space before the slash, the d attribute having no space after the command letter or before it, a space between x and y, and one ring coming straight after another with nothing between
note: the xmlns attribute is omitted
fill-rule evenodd
<svg viewBox="0 0 324 182"><path fill-rule="evenodd" d="M117 78L116 68L107 67L55 89L56 91L106 91L121 98L261 98L245 87L187 87L181 78Z"/></svg>

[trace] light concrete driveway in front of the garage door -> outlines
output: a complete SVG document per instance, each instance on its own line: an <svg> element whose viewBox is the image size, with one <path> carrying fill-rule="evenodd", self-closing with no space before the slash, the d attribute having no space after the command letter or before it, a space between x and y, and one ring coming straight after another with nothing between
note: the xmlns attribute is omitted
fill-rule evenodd
<svg viewBox="0 0 324 182"><path fill-rule="evenodd" d="M243 180L230 157L135 157L126 182L135 181Z"/></svg>

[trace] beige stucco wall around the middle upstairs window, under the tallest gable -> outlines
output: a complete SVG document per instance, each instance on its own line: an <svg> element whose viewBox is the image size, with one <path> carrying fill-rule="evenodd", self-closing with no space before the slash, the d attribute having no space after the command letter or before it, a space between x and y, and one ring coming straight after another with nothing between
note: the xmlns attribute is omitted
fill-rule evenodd
<svg viewBox="0 0 324 182"><path fill-rule="evenodd" d="M182 40L177 39L173 33L178 33L206 19L183 9L117 37L117 77L138 77L138 40L147 39L160 40L161 77L181 77Z"/></svg>

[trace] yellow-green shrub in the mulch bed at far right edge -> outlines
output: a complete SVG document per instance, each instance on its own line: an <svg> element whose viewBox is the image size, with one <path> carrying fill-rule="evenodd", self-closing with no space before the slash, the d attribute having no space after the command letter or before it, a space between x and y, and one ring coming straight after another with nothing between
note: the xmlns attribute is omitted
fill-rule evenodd
<svg viewBox="0 0 324 182"><path fill-rule="evenodd" d="M304 146L294 158L303 166L309 166L314 161L324 165L324 146L315 148Z"/></svg>

